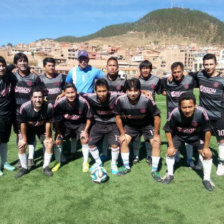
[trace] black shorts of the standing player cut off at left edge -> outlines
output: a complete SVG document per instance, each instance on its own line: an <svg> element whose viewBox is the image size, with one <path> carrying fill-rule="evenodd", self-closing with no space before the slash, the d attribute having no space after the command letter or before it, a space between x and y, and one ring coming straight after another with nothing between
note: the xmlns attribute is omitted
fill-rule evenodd
<svg viewBox="0 0 224 224"><path fill-rule="evenodd" d="M10 117L0 118L0 142L7 143L11 134L12 120Z"/></svg>

